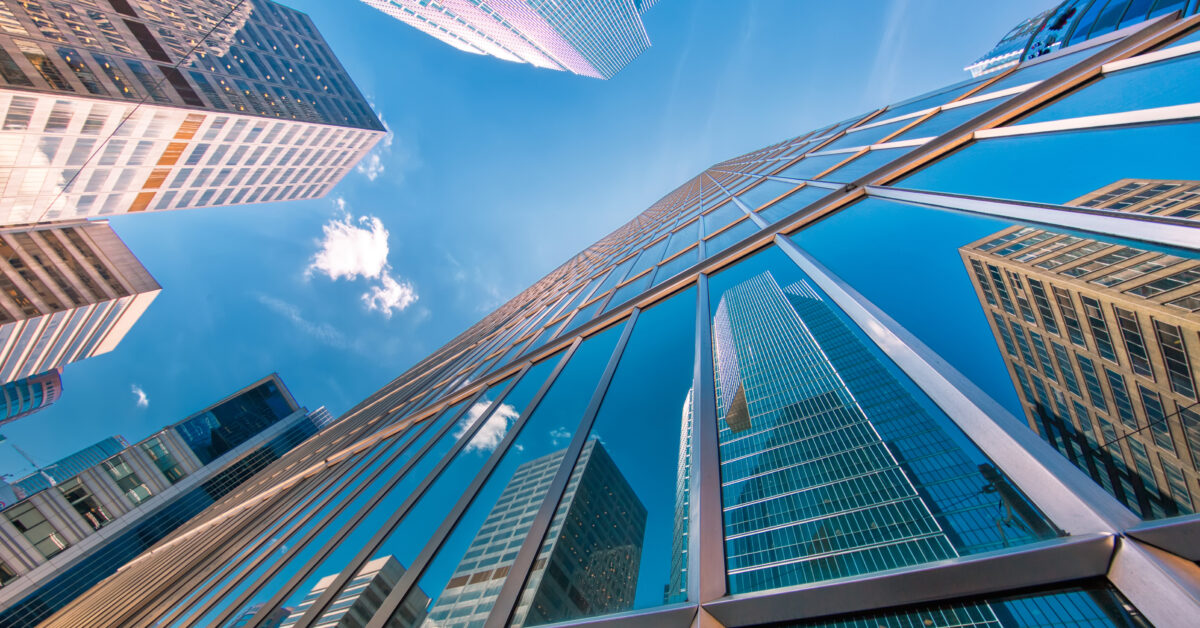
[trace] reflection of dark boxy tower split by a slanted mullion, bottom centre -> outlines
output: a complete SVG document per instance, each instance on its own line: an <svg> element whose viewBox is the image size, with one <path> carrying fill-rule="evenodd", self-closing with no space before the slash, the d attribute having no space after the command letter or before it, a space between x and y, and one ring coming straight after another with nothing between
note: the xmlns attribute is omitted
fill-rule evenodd
<svg viewBox="0 0 1200 628"><path fill-rule="evenodd" d="M487 618L565 454L554 451L517 467L430 610L434 626L462 628ZM600 442L589 439L512 624L631 609L644 536L646 507Z"/></svg>

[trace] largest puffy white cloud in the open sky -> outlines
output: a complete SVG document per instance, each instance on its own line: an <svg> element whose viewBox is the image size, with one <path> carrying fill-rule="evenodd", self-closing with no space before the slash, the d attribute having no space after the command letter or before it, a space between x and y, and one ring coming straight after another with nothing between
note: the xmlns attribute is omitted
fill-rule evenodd
<svg viewBox="0 0 1200 628"><path fill-rule="evenodd" d="M354 217L344 198L335 198L334 204L338 214L322 226L319 250L305 269L305 277L320 274L334 281L378 280L361 299L367 311L378 311L386 318L416 303L416 286L391 273L388 228L383 221L376 216Z"/></svg>

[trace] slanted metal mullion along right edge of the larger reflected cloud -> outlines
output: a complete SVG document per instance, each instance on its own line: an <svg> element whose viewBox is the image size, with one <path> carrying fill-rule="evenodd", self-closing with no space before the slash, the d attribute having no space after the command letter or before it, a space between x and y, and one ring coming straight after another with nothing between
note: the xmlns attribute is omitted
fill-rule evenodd
<svg viewBox="0 0 1200 628"><path fill-rule="evenodd" d="M524 429L526 424L529 423L534 412L538 411L538 406L541 403L541 400L546 396L546 393L550 391L550 388L554 384L554 381L558 379L563 369L566 367L566 363L571 359L571 355L575 354L575 351L582 342L583 339L576 336L570 347L563 352L563 357L559 358L558 364L554 365L554 370L551 371L550 376L546 377L546 381L542 382L541 388L538 389L523 408L521 418L512 425L508 433L504 435L504 439L500 441L500 444L496 447L492 455L488 456L484 466L475 473L474 479L472 479L470 484L463 490L462 496L457 502L455 502L454 507L446 514L446 518L442 521L442 525L438 526L438 530L434 531L433 536L425 543L421 552L413 560L413 564L409 566L408 570L406 570L396 582L396 586L394 586L391 592L388 593L388 597L379 604L379 608L374 611L374 615L372 615L371 621L367 622L367 628L384 628L391 623L391 616L397 609L400 609L400 605L403 604L409 591L418 586L418 581L422 575L425 575L425 569L437 556L438 551L442 549L442 544L450 538L450 533L454 532L455 526L458 525L458 520L462 519L462 515L466 514L467 509L470 508L472 503L474 503L476 495L484 488L484 484L487 483L488 478L491 478L496 466L500 463L500 460L505 455L508 455L509 448L517 439L517 437L521 436L521 431ZM305 616L300 618L298 627L307 628L324 610L324 606L318 609L317 604L313 604L313 606L305 612Z"/></svg>

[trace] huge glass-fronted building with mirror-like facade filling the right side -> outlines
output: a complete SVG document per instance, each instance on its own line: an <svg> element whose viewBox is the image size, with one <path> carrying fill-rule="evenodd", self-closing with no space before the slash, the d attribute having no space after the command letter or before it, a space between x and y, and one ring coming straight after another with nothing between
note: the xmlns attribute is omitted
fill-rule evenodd
<svg viewBox="0 0 1200 628"><path fill-rule="evenodd" d="M1186 391L1196 372L1184 377L1181 365L1200 352L1186 273L1200 264L1187 197L1200 161L1186 159L1200 144L1198 41L1200 17L1165 14L846 112L678 181L265 468L253 492L216 504L46 626L221 626L263 602L257 622L332 575L298 622L312 626L380 556L406 572L372 628L401 618L415 596L431 600L430 624L452 608L445 621L461 611L487 628L551 618L593 628L1193 626L1200 515L1180 507L1162 462L1181 467L1189 495L1200 491L1200 424L1170 418L1189 407L1177 406L1184 397L1195 402ZM1054 269L1019 259L1064 240L1045 255L1088 252ZM1002 253L1014 245L1028 246ZM1116 255L1124 247L1146 252ZM1031 369L1015 340L1019 358L997 351L992 305L965 255L1010 269L1001 276L1015 313L995 286L992 295L1003 328L1015 323L1030 341L1049 402L1014 385L1010 369ZM1078 277L1058 273L1074 268ZM1092 282L1112 273L1153 287L1126 295L1121 283ZM1072 399L1098 443L1097 417L1114 424L1102 444L1120 447L1124 471L1093 474L1072 462L1070 444L1046 439L1060 432L1044 426L1058 430L1067 413L1028 334L1032 313L1051 337L1031 279L1069 293L1086 348L1052 291L1046 303L1054 339L1076 363L1084 396ZM1115 359L1085 297L1099 304ZM1139 335L1117 310L1134 315ZM1076 357L1093 364L1108 413L1090 407ZM1135 370L1146 361L1152 378ZM1121 424L1105 370L1124 379L1139 431ZM1069 393L1064 371L1056 377ZM1148 418L1141 388L1165 421ZM1030 403L1054 414L1031 425ZM1160 497L1148 507L1139 444ZM617 500L616 480L580 510L583 525L557 521L587 506L576 469L600 451L646 512L636 566L632 552L616 552L588 558L598 568L554 569L556 544L583 558L637 527L631 506L602 508L610 496L632 503ZM550 453L562 455L557 468L535 469ZM528 484L504 500L502 521L515 524L493 530L488 518L523 463ZM1133 498L1105 478L1122 494L1128 480ZM520 516L506 508L518 503ZM606 580L632 584L631 588ZM535 608L539 590L556 592L547 612ZM595 590L622 602L598 603Z"/></svg>

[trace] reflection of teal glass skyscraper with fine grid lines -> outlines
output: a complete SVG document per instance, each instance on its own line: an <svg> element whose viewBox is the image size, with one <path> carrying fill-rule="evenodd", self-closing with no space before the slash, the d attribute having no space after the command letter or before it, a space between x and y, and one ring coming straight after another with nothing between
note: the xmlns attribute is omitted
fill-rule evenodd
<svg viewBox="0 0 1200 628"><path fill-rule="evenodd" d="M731 592L1050 536L806 282L730 288L713 345Z"/></svg>

